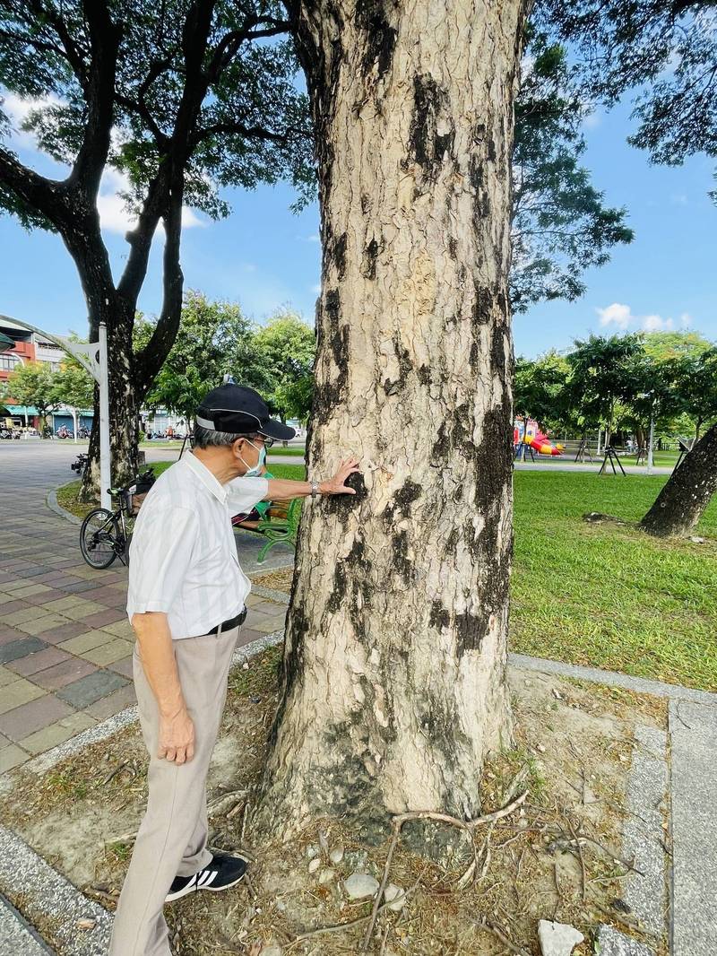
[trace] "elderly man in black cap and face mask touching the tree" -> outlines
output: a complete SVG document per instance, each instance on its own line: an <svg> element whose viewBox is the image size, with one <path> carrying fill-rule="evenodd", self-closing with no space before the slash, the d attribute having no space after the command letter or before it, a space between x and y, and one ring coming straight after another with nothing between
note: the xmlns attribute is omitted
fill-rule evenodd
<svg viewBox="0 0 717 956"><path fill-rule="evenodd" d="M250 592L231 515L265 499L355 493L345 484L355 459L321 483L258 476L266 449L294 432L272 421L251 388L213 389L196 421L194 451L148 493L130 552L127 614L149 798L110 956L170 956L164 902L228 889L246 870L243 859L206 847L206 771Z"/></svg>

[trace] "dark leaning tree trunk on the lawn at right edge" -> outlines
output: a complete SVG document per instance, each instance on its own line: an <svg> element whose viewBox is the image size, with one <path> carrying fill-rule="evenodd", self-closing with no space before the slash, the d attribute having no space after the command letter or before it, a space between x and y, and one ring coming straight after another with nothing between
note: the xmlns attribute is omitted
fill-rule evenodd
<svg viewBox="0 0 717 956"><path fill-rule="evenodd" d="M642 528L667 537L694 528L717 490L717 424L675 468L652 508L642 518Z"/></svg>

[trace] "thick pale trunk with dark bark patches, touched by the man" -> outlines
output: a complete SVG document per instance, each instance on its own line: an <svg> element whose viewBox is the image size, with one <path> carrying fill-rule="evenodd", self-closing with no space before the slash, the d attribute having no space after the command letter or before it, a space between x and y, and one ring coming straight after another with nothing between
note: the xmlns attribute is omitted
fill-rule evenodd
<svg viewBox="0 0 717 956"><path fill-rule="evenodd" d="M305 0L322 291L308 501L258 822L479 810L511 738L512 98L521 0Z"/></svg>

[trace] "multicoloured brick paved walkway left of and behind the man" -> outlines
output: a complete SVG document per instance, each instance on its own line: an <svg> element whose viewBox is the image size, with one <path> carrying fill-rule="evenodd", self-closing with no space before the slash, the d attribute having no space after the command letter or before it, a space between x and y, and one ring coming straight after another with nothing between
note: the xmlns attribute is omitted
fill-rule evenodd
<svg viewBox="0 0 717 956"><path fill-rule="evenodd" d="M13 456L15 458L16 456ZM96 571L79 529L50 511L56 474L0 462L0 772L135 701L127 571ZM250 596L242 643L284 626L286 607Z"/></svg>

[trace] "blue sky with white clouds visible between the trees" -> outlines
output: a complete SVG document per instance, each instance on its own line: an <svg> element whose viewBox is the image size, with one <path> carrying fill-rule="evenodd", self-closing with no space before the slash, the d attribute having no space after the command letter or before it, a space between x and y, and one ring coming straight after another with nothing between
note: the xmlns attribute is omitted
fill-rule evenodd
<svg viewBox="0 0 717 956"><path fill-rule="evenodd" d="M20 116L24 106L9 101ZM650 166L627 145L629 108L588 120L583 163L612 206L627 206L637 236L615 250L612 261L587 275L577 302L536 306L514 320L516 353L535 356L564 349L574 337L641 328L690 328L717 339L717 206L707 196L715 186L713 163L696 157L684 166ZM49 175L60 171L40 157L33 141L15 143L21 158ZM121 269L126 216L115 190L116 176L102 186L100 211L113 268ZM233 214L223 222L186 210L182 264L185 287L241 303L261 321L283 306L312 322L320 271L318 210L293 215L288 185L254 192L228 190ZM145 313L161 302L162 235L155 239L150 274L141 295ZM0 313L24 318L48 331L86 330L85 309L72 260L54 235L26 232L0 218Z"/></svg>

